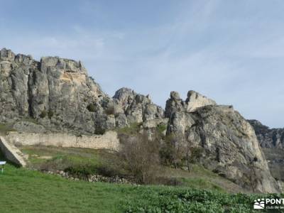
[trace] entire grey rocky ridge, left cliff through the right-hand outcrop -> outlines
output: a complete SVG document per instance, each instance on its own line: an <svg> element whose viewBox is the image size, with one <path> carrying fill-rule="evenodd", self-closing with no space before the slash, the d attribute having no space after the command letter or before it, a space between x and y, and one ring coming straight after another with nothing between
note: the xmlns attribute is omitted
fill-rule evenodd
<svg viewBox="0 0 284 213"><path fill-rule="evenodd" d="M0 53L0 123L18 131L78 134L163 124L166 136L178 138L175 146L202 150L198 160L204 167L254 192L278 192L256 134L233 107L190 90L185 101L171 92L164 111L132 89L109 97L81 62Z"/></svg>

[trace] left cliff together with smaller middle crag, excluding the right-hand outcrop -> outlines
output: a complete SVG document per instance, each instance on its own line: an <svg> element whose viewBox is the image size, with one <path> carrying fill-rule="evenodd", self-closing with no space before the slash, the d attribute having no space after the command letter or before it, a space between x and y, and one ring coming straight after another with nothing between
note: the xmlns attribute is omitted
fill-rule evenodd
<svg viewBox="0 0 284 213"><path fill-rule="evenodd" d="M0 123L36 132L102 133L163 116L149 97L131 89L119 89L114 99L107 96L81 62L58 57L38 62L5 48L0 51L0 103Z"/></svg>

